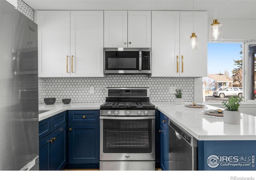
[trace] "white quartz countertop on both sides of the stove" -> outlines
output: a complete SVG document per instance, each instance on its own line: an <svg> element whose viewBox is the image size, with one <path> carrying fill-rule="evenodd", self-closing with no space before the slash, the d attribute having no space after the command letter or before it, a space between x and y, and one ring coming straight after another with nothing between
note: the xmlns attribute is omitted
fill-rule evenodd
<svg viewBox="0 0 256 180"><path fill-rule="evenodd" d="M168 118L198 140L256 140L256 116L241 113L241 124L226 124L223 118L202 114L204 109L186 108L173 102L151 102ZM39 121L65 110L96 110L103 102L71 103L54 105L39 104L39 110L50 110L39 114ZM208 106L208 109L218 109Z"/></svg>

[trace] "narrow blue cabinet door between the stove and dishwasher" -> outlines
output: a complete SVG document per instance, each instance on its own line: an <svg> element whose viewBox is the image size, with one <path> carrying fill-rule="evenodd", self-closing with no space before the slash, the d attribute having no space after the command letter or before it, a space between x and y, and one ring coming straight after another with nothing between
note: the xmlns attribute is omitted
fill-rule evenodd
<svg viewBox="0 0 256 180"><path fill-rule="evenodd" d="M160 166L162 170L169 170L169 134L160 125Z"/></svg>

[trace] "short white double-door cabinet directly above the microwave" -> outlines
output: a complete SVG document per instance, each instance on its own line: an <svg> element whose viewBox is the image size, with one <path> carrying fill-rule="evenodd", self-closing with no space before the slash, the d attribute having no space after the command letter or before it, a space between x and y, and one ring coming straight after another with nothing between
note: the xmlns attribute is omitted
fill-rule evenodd
<svg viewBox="0 0 256 180"><path fill-rule="evenodd" d="M105 48L150 48L151 11L104 11Z"/></svg>

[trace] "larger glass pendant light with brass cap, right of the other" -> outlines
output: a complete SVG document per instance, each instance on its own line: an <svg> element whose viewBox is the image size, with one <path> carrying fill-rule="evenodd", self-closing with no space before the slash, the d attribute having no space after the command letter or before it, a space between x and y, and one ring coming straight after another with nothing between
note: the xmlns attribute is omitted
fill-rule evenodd
<svg viewBox="0 0 256 180"><path fill-rule="evenodd" d="M216 0L215 0L215 19L212 25L209 27L209 41L220 42L223 40L222 24L216 19Z"/></svg>

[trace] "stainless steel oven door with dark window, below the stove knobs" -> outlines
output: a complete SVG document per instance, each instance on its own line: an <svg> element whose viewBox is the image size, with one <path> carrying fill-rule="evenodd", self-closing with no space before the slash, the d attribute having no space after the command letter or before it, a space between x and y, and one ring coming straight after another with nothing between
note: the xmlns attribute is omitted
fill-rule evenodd
<svg viewBox="0 0 256 180"><path fill-rule="evenodd" d="M155 160L155 117L100 117L100 160Z"/></svg>

